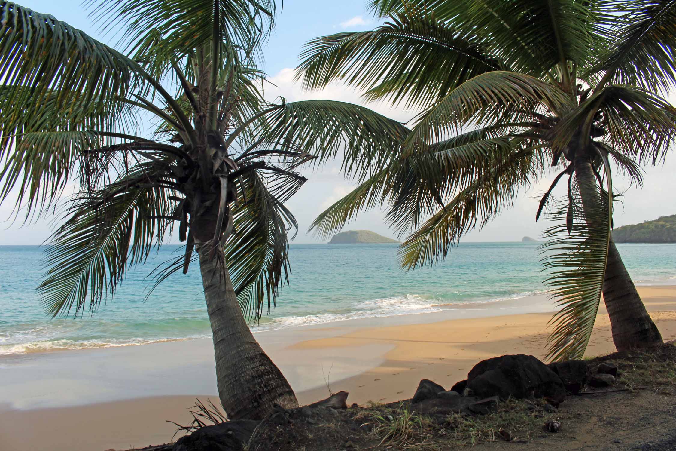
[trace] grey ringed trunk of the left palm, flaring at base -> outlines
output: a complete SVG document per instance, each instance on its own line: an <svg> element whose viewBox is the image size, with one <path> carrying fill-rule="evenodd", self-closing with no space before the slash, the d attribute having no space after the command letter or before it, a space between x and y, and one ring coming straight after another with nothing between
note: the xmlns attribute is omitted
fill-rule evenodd
<svg viewBox="0 0 676 451"><path fill-rule="evenodd" d="M228 418L258 420L272 412L274 404L297 406L287 379L262 350L239 309L222 247L215 258L210 245L200 245L197 252L214 337L218 396Z"/></svg>

